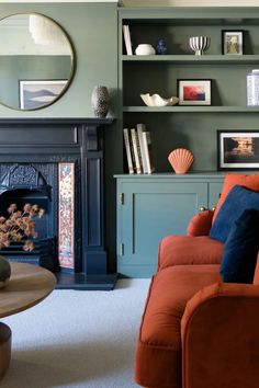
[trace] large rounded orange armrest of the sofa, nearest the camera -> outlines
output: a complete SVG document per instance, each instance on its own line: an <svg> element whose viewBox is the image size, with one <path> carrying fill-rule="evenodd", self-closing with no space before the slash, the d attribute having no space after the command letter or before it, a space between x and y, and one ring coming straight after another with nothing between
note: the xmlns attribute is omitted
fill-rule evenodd
<svg viewBox="0 0 259 388"><path fill-rule="evenodd" d="M217 283L181 320L183 388L259 387L259 287Z"/></svg>

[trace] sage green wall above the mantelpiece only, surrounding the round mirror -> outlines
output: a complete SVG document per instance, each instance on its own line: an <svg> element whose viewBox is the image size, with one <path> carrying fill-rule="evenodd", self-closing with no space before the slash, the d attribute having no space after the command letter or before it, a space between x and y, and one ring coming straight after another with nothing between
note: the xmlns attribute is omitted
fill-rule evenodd
<svg viewBox="0 0 259 388"><path fill-rule="evenodd" d="M76 53L74 81L59 101L43 111L24 113L0 106L0 116L91 117L93 87L117 88L116 3L0 3L1 18L30 11L54 19L70 37Z"/></svg>

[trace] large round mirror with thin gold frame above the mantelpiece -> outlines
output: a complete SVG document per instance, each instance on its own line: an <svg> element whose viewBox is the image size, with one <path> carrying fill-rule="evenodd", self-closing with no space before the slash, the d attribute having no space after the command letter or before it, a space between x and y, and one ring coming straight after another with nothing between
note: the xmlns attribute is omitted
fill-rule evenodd
<svg viewBox="0 0 259 388"><path fill-rule="evenodd" d="M67 90L74 75L74 49L64 30L38 13L0 20L0 103L40 110Z"/></svg>

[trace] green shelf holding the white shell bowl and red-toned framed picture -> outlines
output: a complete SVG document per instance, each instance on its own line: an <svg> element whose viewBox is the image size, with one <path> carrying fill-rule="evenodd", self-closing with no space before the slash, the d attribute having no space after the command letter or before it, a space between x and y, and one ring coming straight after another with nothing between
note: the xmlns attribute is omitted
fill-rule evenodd
<svg viewBox="0 0 259 388"><path fill-rule="evenodd" d="M200 105L200 106L123 106L123 112L142 112L142 113L157 113L157 112L168 112L168 113L183 113L183 112L235 112L235 113L259 113L259 106L212 106L212 105Z"/></svg>

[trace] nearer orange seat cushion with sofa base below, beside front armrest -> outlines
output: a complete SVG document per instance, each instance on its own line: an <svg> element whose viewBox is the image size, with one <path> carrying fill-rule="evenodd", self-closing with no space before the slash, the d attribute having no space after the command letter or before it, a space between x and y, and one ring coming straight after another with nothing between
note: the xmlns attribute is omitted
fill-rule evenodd
<svg viewBox="0 0 259 388"><path fill-rule="evenodd" d="M181 318L187 301L219 281L219 265L178 265L153 278L135 357L135 380L144 387L181 388Z"/></svg>

